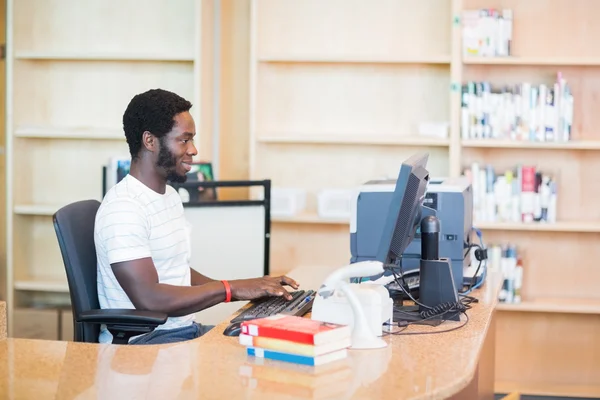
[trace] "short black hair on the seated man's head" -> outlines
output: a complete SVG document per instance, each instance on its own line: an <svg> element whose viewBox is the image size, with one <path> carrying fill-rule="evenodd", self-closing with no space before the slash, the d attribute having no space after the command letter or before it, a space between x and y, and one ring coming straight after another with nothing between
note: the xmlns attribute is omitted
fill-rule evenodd
<svg viewBox="0 0 600 400"><path fill-rule="evenodd" d="M131 99L123 114L123 130L131 158L137 158L145 131L164 137L175 125L175 116L189 111L192 103L163 89L151 89Z"/></svg>

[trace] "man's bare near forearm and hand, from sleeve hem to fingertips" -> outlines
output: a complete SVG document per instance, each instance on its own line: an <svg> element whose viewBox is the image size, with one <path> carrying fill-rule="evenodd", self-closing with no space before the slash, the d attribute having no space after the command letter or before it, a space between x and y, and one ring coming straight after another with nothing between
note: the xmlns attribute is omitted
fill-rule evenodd
<svg viewBox="0 0 600 400"><path fill-rule="evenodd" d="M202 286L173 286L158 282L151 258L111 264L115 277L138 310L164 312L171 317L188 315L214 306L225 300L225 286L221 281ZM236 300L253 300L264 296L291 295L283 285L298 288L287 276L263 277L229 281L231 295Z"/></svg>

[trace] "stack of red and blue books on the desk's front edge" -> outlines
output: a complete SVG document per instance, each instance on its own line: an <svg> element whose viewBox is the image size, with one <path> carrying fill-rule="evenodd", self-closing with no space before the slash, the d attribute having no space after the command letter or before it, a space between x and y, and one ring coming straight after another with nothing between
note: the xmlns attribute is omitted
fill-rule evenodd
<svg viewBox="0 0 600 400"><path fill-rule="evenodd" d="M347 325L291 315L244 321L240 343L249 356L304 365L324 365L348 356L351 329Z"/></svg>

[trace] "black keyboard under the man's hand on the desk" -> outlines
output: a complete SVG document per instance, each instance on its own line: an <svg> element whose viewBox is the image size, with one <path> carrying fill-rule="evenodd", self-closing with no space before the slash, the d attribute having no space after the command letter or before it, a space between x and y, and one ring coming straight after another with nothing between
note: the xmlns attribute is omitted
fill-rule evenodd
<svg viewBox="0 0 600 400"><path fill-rule="evenodd" d="M303 316L312 309L316 292L314 290L297 290L290 292L292 300L283 297L264 297L253 300L252 305L231 320L231 323L248 321L256 318L270 317L275 314Z"/></svg>

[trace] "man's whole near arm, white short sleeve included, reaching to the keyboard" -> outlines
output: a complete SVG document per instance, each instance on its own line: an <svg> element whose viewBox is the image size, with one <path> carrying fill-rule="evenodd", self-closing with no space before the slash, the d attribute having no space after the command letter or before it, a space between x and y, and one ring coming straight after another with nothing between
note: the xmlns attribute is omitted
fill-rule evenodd
<svg viewBox="0 0 600 400"><path fill-rule="evenodd" d="M138 310L182 316L198 312L225 300L225 286L211 281L201 286L174 286L159 283L149 247L149 223L139 204L117 199L105 205L97 221L98 245L106 250L111 269ZM287 277L230 281L232 299L252 300L262 296L291 299L283 285L297 288Z"/></svg>

